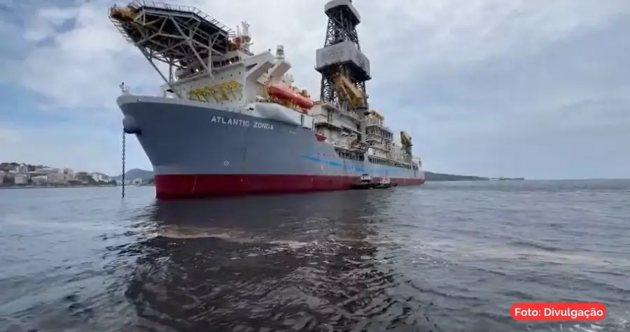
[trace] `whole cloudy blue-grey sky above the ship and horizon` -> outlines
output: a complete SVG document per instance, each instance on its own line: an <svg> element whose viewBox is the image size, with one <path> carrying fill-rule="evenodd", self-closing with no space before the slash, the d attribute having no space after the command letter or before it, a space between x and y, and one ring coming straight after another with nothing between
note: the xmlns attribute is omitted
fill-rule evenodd
<svg viewBox="0 0 630 332"><path fill-rule="evenodd" d="M325 1L186 0L253 50L284 45L318 96ZM370 107L406 130L427 171L630 178L630 1L353 1ZM120 82L163 84L107 17L111 1L0 4L0 161L120 173ZM125 4L125 3L120 3ZM127 168L151 169L127 137Z"/></svg>

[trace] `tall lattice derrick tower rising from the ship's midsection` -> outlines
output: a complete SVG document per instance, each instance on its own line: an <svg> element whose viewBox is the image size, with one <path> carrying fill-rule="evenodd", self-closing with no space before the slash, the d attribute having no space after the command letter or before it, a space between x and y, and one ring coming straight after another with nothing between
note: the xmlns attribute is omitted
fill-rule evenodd
<svg viewBox="0 0 630 332"><path fill-rule="evenodd" d="M361 17L352 0L331 0L324 6L328 27L324 47L316 50L315 69L321 73L320 99L350 108L367 108L365 82L370 60L360 49L356 26Z"/></svg>

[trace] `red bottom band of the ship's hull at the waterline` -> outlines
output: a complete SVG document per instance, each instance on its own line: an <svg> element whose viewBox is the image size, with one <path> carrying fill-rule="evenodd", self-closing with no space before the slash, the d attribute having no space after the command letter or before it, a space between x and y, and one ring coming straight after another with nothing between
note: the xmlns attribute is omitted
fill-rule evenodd
<svg viewBox="0 0 630 332"><path fill-rule="evenodd" d="M158 199L255 194L330 192L350 189L358 177L326 175L155 175ZM374 178L374 182L379 178ZM424 179L391 178L399 186L422 185Z"/></svg>

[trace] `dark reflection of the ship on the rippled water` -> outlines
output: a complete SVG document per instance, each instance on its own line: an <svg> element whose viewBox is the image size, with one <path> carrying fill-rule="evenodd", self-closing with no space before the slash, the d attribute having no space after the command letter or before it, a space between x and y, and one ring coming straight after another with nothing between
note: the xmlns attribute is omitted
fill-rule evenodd
<svg viewBox="0 0 630 332"><path fill-rule="evenodd" d="M435 331L388 294L368 192L159 202L125 296L147 331ZM141 223L146 224L146 223ZM415 308L414 308L415 307ZM426 326L423 326L424 324Z"/></svg>

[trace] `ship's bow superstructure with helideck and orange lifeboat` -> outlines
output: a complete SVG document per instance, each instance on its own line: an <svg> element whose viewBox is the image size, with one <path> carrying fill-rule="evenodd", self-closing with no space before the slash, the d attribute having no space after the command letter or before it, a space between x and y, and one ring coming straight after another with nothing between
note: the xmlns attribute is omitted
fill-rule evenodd
<svg viewBox="0 0 630 332"><path fill-rule="evenodd" d="M152 1L113 6L110 19L165 81L162 96L202 101L237 113L250 112L243 107L248 103L274 99L274 105L299 113L277 108L286 114L272 117L281 118L307 116L312 106L308 93L293 87L282 45L275 55L271 50L251 52L247 22L233 31L197 8ZM269 90L280 97L270 96Z"/></svg>

